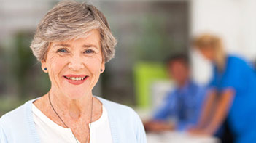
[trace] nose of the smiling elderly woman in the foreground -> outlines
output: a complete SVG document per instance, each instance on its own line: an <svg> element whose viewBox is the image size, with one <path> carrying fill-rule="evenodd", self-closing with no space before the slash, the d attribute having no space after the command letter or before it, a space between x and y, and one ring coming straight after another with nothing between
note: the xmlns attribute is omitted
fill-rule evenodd
<svg viewBox="0 0 256 143"><path fill-rule="evenodd" d="M74 71L81 70L82 68L85 68L82 58L79 55L73 55L70 58L70 62L69 62L68 66L71 70L74 70Z"/></svg>

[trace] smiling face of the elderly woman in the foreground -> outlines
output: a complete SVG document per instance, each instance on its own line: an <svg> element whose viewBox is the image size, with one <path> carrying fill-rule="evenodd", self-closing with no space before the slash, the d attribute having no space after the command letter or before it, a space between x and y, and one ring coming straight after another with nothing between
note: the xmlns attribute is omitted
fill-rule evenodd
<svg viewBox="0 0 256 143"><path fill-rule="evenodd" d="M92 94L105 68L98 30L91 30L85 38L50 44L42 68L47 68L55 94L69 99Z"/></svg>

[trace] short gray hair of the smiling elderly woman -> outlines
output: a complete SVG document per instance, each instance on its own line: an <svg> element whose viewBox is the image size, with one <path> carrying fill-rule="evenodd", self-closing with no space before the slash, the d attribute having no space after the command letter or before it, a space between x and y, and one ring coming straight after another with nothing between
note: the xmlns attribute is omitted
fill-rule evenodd
<svg viewBox="0 0 256 143"><path fill-rule="evenodd" d="M98 29L104 62L115 55L117 40L112 35L106 17L96 7L76 1L58 3L37 25L31 49L37 60L45 60L50 42L81 38Z"/></svg>

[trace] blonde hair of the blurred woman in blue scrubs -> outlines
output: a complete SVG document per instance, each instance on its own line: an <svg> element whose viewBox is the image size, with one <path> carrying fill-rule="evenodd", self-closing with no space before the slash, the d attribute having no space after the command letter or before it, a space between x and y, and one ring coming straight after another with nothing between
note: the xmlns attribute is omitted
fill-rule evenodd
<svg viewBox="0 0 256 143"><path fill-rule="evenodd" d="M202 34L193 40L193 45L198 49L213 49L214 62L217 64L217 69L224 70L226 54L219 37L207 33Z"/></svg>

